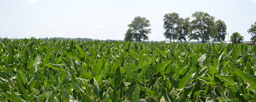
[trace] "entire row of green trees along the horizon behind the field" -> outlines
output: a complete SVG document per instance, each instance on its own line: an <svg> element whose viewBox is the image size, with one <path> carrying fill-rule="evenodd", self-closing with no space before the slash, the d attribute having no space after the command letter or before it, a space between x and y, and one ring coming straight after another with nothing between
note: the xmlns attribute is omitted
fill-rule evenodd
<svg viewBox="0 0 256 102"><path fill-rule="evenodd" d="M178 13L168 13L164 15L165 30L164 37L166 39L178 40L180 42L186 42L186 36L188 40L201 40L202 43L206 43L210 39L213 41L224 41L226 32L226 24L221 19L215 21L215 17L201 11L196 11L192 14L193 20L190 21L189 17L179 17ZM151 26L149 20L145 17L135 17L132 23L128 25L129 29L126 31L125 41L138 41L148 40L148 34L151 33ZM248 33L252 35L252 42L256 42L256 22L251 26ZM233 33L230 36L230 40L233 43L240 43L243 40L238 32Z"/></svg>

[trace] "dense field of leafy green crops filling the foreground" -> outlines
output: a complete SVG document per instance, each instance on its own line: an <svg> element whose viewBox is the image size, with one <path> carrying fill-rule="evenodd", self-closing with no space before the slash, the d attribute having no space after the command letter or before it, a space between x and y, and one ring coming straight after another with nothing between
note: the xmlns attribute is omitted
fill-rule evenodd
<svg viewBox="0 0 256 102"><path fill-rule="evenodd" d="M2 102L256 102L256 45L0 39Z"/></svg>

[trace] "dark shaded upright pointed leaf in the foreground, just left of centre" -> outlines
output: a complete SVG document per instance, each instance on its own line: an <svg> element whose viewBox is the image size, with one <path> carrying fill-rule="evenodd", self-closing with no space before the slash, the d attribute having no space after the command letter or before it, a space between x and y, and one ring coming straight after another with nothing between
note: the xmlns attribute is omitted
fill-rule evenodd
<svg viewBox="0 0 256 102"><path fill-rule="evenodd" d="M115 74L113 76L112 82L114 83L114 88L117 89L122 82L122 74L120 72L120 67L118 66L117 70L115 71ZM112 83L112 85L113 85Z"/></svg>

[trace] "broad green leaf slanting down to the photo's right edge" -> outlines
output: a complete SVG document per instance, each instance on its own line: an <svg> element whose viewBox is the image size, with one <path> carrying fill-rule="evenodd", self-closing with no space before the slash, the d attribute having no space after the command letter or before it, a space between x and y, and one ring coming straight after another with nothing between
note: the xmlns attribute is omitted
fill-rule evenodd
<svg viewBox="0 0 256 102"><path fill-rule="evenodd" d="M247 73L245 73L241 70L238 70L238 69L235 69L235 72L233 72L233 73L237 74L238 75L237 77L241 77L247 83L250 83L252 85L256 85L256 78L255 77L252 77L251 75L249 75L249 74L247 74Z"/></svg>

